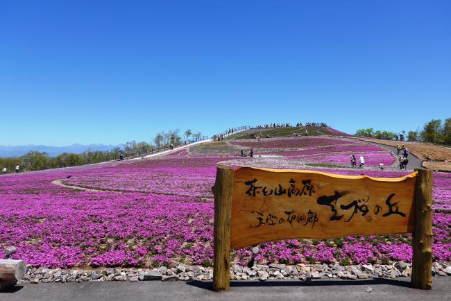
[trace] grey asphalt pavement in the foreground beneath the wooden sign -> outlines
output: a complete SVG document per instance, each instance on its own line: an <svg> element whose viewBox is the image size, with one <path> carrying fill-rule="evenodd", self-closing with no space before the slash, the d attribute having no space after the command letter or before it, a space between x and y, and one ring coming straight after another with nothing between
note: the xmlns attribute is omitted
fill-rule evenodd
<svg viewBox="0 0 451 301"><path fill-rule="evenodd" d="M85 282L24 284L0 292L0 300L450 300L451 277L434 277L433 289L410 288L410 279L232 282L230 291L211 291L212 282ZM371 293L366 293L370 287Z"/></svg>

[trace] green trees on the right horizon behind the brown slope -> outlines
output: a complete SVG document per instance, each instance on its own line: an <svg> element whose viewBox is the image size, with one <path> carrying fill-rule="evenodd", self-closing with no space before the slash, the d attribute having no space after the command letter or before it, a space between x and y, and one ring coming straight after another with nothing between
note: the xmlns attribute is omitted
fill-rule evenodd
<svg viewBox="0 0 451 301"><path fill-rule="evenodd" d="M377 139L400 140L404 141L423 141L433 144L451 145L451 118L441 121L441 119L432 119L425 123L423 130L402 130L399 135L395 132L386 130L374 130L373 128L361 128L355 132L357 136L371 137Z"/></svg>

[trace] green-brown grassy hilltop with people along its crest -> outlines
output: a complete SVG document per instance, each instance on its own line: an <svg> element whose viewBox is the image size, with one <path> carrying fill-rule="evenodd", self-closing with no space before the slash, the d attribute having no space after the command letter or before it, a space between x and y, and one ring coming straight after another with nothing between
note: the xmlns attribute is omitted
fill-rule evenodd
<svg viewBox="0 0 451 301"><path fill-rule="evenodd" d="M333 132L329 128L323 128L321 126L299 126L291 128L253 128L244 132L237 132L236 134L226 137L226 140L232 139L250 139L253 134L262 134L262 138L266 138L266 135L275 135L275 137L293 137L293 132L297 132L298 135L305 135L305 130L309 132L309 136L341 136L341 132Z"/></svg>

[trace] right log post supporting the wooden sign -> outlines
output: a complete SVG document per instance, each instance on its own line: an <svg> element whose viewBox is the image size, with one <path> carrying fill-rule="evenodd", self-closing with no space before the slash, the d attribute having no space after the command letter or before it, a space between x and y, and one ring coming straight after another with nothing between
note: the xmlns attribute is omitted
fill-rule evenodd
<svg viewBox="0 0 451 301"><path fill-rule="evenodd" d="M415 169L415 227L411 286L432 289L432 171Z"/></svg>

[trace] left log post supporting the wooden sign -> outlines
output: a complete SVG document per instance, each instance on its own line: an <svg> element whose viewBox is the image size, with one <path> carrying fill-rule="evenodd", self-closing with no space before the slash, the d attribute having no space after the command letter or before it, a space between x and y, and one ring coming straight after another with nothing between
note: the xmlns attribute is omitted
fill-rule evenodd
<svg viewBox="0 0 451 301"><path fill-rule="evenodd" d="M214 194L213 290L230 289L230 214L232 209L233 169L218 167Z"/></svg>

